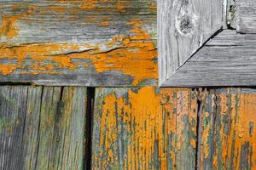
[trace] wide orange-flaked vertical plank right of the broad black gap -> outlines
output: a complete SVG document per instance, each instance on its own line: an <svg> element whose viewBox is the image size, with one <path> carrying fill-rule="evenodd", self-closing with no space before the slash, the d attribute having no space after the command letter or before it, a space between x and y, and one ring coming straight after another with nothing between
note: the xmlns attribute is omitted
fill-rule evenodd
<svg viewBox="0 0 256 170"><path fill-rule="evenodd" d="M190 89L96 88L93 169L195 169Z"/></svg>

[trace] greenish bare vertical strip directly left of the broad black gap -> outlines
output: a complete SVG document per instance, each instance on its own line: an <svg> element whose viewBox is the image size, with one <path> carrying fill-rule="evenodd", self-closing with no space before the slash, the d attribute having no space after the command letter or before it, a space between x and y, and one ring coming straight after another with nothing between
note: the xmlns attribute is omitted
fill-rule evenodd
<svg viewBox="0 0 256 170"><path fill-rule="evenodd" d="M65 87L56 116L55 169L83 169L86 88Z"/></svg>

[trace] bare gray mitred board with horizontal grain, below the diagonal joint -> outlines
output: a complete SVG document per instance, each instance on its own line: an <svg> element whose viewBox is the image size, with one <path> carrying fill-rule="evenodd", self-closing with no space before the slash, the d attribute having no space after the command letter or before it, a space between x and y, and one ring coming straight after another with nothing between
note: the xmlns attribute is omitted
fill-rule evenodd
<svg viewBox="0 0 256 170"><path fill-rule="evenodd" d="M256 34L222 31L162 86L254 86Z"/></svg>

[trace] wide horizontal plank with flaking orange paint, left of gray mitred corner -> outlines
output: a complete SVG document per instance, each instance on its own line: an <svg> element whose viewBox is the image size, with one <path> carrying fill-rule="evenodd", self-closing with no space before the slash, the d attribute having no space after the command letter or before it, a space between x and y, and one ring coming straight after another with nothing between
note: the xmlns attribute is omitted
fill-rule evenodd
<svg viewBox="0 0 256 170"><path fill-rule="evenodd" d="M0 81L157 84L154 0L0 2Z"/></svg>

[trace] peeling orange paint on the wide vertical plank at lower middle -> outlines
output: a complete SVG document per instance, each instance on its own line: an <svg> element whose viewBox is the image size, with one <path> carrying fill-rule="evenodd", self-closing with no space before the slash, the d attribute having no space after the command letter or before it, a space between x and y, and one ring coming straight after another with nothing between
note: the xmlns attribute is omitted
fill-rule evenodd
<svg viewBox="0 0 256 170"><path fill-rule="evenodd" d="M97 132L100 133L100 142L96 148L104 152L94 155L96 164L93 168L106 169L108 166L117 166L115 164L119 162L119 166L124 169L150 169L155 162L161 169L166 169L167 161L170 161L168 159L172 159L172 166L175 167L175 160L179 159L177 157L184 154L182 148L186 148L188 143L195 147L195 139L189 141L183 132L188 126L183 122L184 117L189 117L188 123L196 120L196 102L194 99L189 103L189 90L180 89L177 92L175 88L168 88L157 94L155 88L145 87L135 91L128 89L127 95L123 93L117 89L100 98L102 105L98 106L102 116L98 117L100 132ZM172 100L176 94L177 98ZM174 113L174 110L180 112ZM177 138L172 143L168 140L171 133ZM196 129L189 133L196 133ZM125 148L119 145L120 139ZM125 143L127 140L128 144ZM173 150L168 149L170 145ZM123 153L126 155L124 160L119 157L121 150L127 150ZM154 160L155 154L159 162Z"/></svg>

